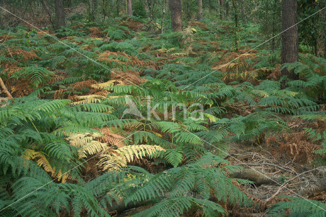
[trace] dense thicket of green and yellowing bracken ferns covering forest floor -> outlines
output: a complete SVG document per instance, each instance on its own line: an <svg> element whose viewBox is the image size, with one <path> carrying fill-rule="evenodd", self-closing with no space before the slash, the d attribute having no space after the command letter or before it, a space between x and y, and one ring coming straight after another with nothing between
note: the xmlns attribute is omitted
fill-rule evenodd
<svg viewBox="0 0 326 217"><path fill-rule="evenodd" d="M107 21L96 37L87 26L61 29L60 38L25 26L0 32L0 75L15 97L0 104L1 215L110 216L130 204L151 205L135 216L263 210L242 189L253 183L233 179L240 167L224 157L234 142L292 133L287 115L324 122L325 59L301 54L281 66L279 52L262 50L229 63L257 44L258 28L242 27L253 34L236 53L227 50L227 21L154 36L125 19ZM300 80L280 78L281 67ZM138 115L125 112L128 102ZM148 107L157 115L148 118ZM307 155L323 161L325 131L305 133L318 145ZM280 200L267 216L322 216L303 199Z"/></svg>

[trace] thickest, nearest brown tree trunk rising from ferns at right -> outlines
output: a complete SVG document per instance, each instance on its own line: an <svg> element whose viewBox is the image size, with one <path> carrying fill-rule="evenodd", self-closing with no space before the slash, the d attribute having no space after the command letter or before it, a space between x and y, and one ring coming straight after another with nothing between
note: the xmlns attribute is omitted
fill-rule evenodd
<svg viewBox="0 0 326 217"><path fill-rule="evenodd" d="M297 31L297 0L282 0L282 64L293 63L299 60L298 31ZM293 26L295 25L295 26ZM290 29L289 29L290 28ZM282 76L297 80L298 75L286 68L282 69ZM285 83L283 83L283 87Z"/></svg>

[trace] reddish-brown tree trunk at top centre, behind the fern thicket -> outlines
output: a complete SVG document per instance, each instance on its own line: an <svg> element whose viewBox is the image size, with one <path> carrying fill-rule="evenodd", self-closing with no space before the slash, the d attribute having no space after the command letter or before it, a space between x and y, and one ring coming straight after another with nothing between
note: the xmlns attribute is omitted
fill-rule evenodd
<svg viewBox="0 0 326 217"><path fill-rule="evenodd" d="M169 0L169 8L171 11L171 26L173 31L182 31L181 0Z"/></svg>

